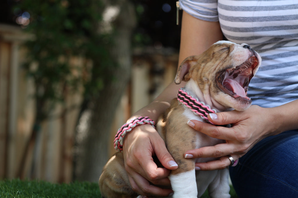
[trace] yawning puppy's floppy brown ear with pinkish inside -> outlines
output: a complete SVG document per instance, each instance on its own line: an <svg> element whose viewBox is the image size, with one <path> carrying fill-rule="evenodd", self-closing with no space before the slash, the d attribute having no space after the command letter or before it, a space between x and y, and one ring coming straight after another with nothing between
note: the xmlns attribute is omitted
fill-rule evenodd
<svg viewBox="0 0 298 198"><path fill-rule="evenodd" d="M180 84L182 80L188 81L190 79L190 69L193 65L198 64L198 56L190 56L182 61L175 77L175 83Z"/></svg>

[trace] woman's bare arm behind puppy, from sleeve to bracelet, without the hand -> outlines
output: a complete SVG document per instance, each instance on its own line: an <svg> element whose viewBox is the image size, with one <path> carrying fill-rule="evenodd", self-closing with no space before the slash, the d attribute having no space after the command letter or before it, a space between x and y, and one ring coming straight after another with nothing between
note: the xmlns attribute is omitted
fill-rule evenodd
<svg viewBox="0 0 298 198"><path fill-rule="evenodd" d="M213 43L222 40L222 38L223 35L218 22L199 20L183 12L178 66L188 56L203 53ZM134 113L131 118L148 116L156 121L159 115L170 106L171 100L177 97L179 88L184 85L185 82L179 85L172 82L153 102Z"/></svg>

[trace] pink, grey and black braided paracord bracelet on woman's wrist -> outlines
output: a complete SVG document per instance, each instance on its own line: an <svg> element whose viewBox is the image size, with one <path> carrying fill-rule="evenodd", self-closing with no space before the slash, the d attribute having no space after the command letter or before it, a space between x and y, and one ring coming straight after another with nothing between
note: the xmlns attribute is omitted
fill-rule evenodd
<svg viewBox="0 0 298 198"><path fill-rule="evenodd" d="M150 124L154 127L154 121L151 120L149 117L132 118L130 123L125 123L120 129L118 129L118 132L115 135L114 148L117 151L122 152L123 145L121 145L120 143L122 141L122 138L125 136L127 132L130 132L134 127L141 124Z"/></svg>

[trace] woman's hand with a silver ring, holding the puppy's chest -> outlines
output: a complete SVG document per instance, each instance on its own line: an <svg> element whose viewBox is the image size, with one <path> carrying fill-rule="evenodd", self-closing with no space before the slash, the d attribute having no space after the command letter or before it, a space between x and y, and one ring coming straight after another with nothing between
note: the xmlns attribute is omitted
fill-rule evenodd
<svg viewBox="0 0 298 198"><path fill-rule="evenodd" d="M187 151L184 156L187 158L219 158L206 163L196 163L197 170L226 168L231 164L226 155L231 155L234 160L238 160L263 138L280 133L277 131L279 126L277 117L272 113L272 109L252 105L244 111L233 110L208 115L208 119L216 125L232 124L231 128L214 126L195 120L190 121L189 125L195 130L214 138L226 140L226 143Z"/></svg>

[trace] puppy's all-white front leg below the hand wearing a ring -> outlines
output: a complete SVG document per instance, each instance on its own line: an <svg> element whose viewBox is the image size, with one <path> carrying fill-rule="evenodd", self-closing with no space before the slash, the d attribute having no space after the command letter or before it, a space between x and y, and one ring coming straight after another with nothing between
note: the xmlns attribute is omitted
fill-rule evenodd
<svg viewBox="0 0 298 198"><path fill-rule="evenodd" d="M218 174L209 185L210 197L230 198L229 169L218 170Z"/></svg>

